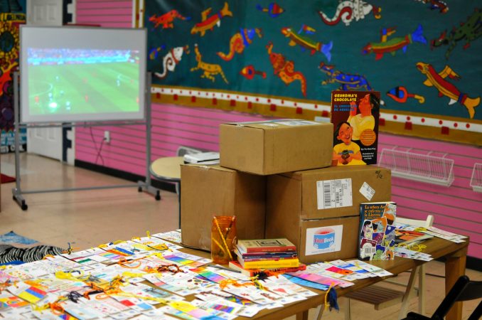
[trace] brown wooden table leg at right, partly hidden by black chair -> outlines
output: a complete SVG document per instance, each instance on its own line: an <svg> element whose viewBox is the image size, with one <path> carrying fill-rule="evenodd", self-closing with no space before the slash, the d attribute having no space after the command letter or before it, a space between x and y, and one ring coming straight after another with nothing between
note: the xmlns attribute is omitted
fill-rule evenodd
<svg viewBox="0 0 482 320"><path fill-rule="evenodd" d="M445 294L447 294L451 287L459 277L465 274L465 265L467 260L467 247L454 252L454 254L446 257L445 262ZM456 302L451 307L446 316L446 320L461 320L462 319L462 302Z"/></svg>

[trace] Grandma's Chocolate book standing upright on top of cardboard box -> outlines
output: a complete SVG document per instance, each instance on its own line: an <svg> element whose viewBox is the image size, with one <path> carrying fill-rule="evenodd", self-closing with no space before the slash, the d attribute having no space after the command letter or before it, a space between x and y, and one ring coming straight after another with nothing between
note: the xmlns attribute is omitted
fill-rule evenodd
<svg viewBox="0 0 482 320"><path fill-rule="evenodd" d="M332 166L376 164L380 92L331 92Z"/></svg>

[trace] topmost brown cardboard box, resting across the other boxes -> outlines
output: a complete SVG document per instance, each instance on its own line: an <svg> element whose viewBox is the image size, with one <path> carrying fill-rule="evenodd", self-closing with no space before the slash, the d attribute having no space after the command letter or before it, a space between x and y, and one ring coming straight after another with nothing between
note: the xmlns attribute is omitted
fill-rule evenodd
<svg viewBox="0 0 482 320"><path fill-rule="evenodd" d="M299 119L220 124L220 165L252 174L331 165L333 124Z"/></svg>

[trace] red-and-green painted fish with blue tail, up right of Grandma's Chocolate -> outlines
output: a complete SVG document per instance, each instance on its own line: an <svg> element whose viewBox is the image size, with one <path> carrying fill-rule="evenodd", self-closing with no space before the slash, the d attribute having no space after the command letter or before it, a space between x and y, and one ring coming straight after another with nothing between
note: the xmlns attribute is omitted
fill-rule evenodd
<svg viewBox="0 0 482 320"><path fill-rule="evenodd" d="M380 60L385 53L395 55L397 50L402 49L403 53L407 52L407 46L414 42L427 44L427 39L423 35L422 25L419 24L413 33L409 33L404 37L396 37L387 40L387 38L395 33L395 28L383 28L380 42L370 42L363 47L362 53L368 55L375 53L375 60Z"/></svg>

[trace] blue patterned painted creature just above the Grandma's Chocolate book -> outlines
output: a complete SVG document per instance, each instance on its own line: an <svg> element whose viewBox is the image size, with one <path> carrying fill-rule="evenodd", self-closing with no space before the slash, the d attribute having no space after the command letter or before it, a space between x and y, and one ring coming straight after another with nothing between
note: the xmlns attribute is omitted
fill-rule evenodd
<svg viewBox="0 0 482 320"><path fill-rule="evenodd" d="M367 90L371 91L372 87L368 80L363 75L352 75L350 73L343 73L342 71L335 70L334 65L326 65L320 63L318 69L326 75L328 78L321 82L321 85L328 85L328 83L340 83L338 90Z"/></svg>

